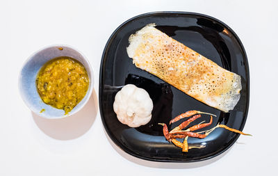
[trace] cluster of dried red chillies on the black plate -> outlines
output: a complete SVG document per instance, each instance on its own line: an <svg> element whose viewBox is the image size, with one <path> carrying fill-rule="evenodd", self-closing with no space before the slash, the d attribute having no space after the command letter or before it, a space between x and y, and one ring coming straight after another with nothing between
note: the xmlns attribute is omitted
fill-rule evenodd
<svg viewBox="0 0 278 176"><path fill-rule="evenodd" d="M188 112L190 112L190 111L188 111ZM179 117L179 115L177 117ZM194 120L196 120L197 118L200 118L200 117L201 117L201 115L194 115L192 118L189 118L188 120L182 122L178 127L175 127L170 132L168 131L168 127L165 123L158 123L158 125L163 126L163 135L165 136L166 140L169 141L170 143L173 143L177 147L182 148L182 152L188 152L188 150L190 150L191 148L206 147L205 145L197 145L195 147L189 146L188 145L188 137L206 138L206 136L208 136L208 134L210 134L213 130L215 130L218 127L227 129L229 131L233 131L238 134L252 136L251 134L245 134L242 131L239 131L238 129L232 129L230 127L227 127L226 125L220 125L220 124L216 125L212 129L208 129L206 131L193 132L193 131L196 131L197 129L202 129L204 127L208 127L209 125L211 125L213 122L212 115L211 115L210 122L208 122L208 123L201 122L198 125L193 125L192 127L189 127L186 130L182 130L182 129L188 127L190 122L193 122ZM183 138L183 143L181 143L180 141L177 141L177 138Z"/></svg>

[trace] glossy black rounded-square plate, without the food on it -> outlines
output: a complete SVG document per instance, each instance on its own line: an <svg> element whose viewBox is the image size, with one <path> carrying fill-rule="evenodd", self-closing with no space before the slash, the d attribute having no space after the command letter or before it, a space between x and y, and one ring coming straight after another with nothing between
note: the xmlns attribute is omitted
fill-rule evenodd
<svg viewBox="0 0 278 176"><path fill-rule="evenodd" d="M241 76L240 100L234 110L224 113L182 93L158 77L138 69L126 54L129 35L147 24L211 59L225 69ZM133 83L144 88L154 102L152 120L144 126L130 128L117 120L113 111L115 94L122 86ZM109 38L102 56L99 76L99 108L108 136L125 152L150 161L192 162L210 159L221 154L236 142L238 134L225 129L215 129L204 139L189 138L188 145L206 145L188 153L168 143L158 122L168 122L189 110L198 110L217 115L218 123L243 130L249 105L249 68L247 56L238 36L229 26L207 15L183 12L147 13L133 17L119 26ZM209 115L195 120L191 125L209 120ZM179 122L178 122L179 123ZM171 125L170 129L177 126ZM205 129L204 129L205 130Z"/></svg>

